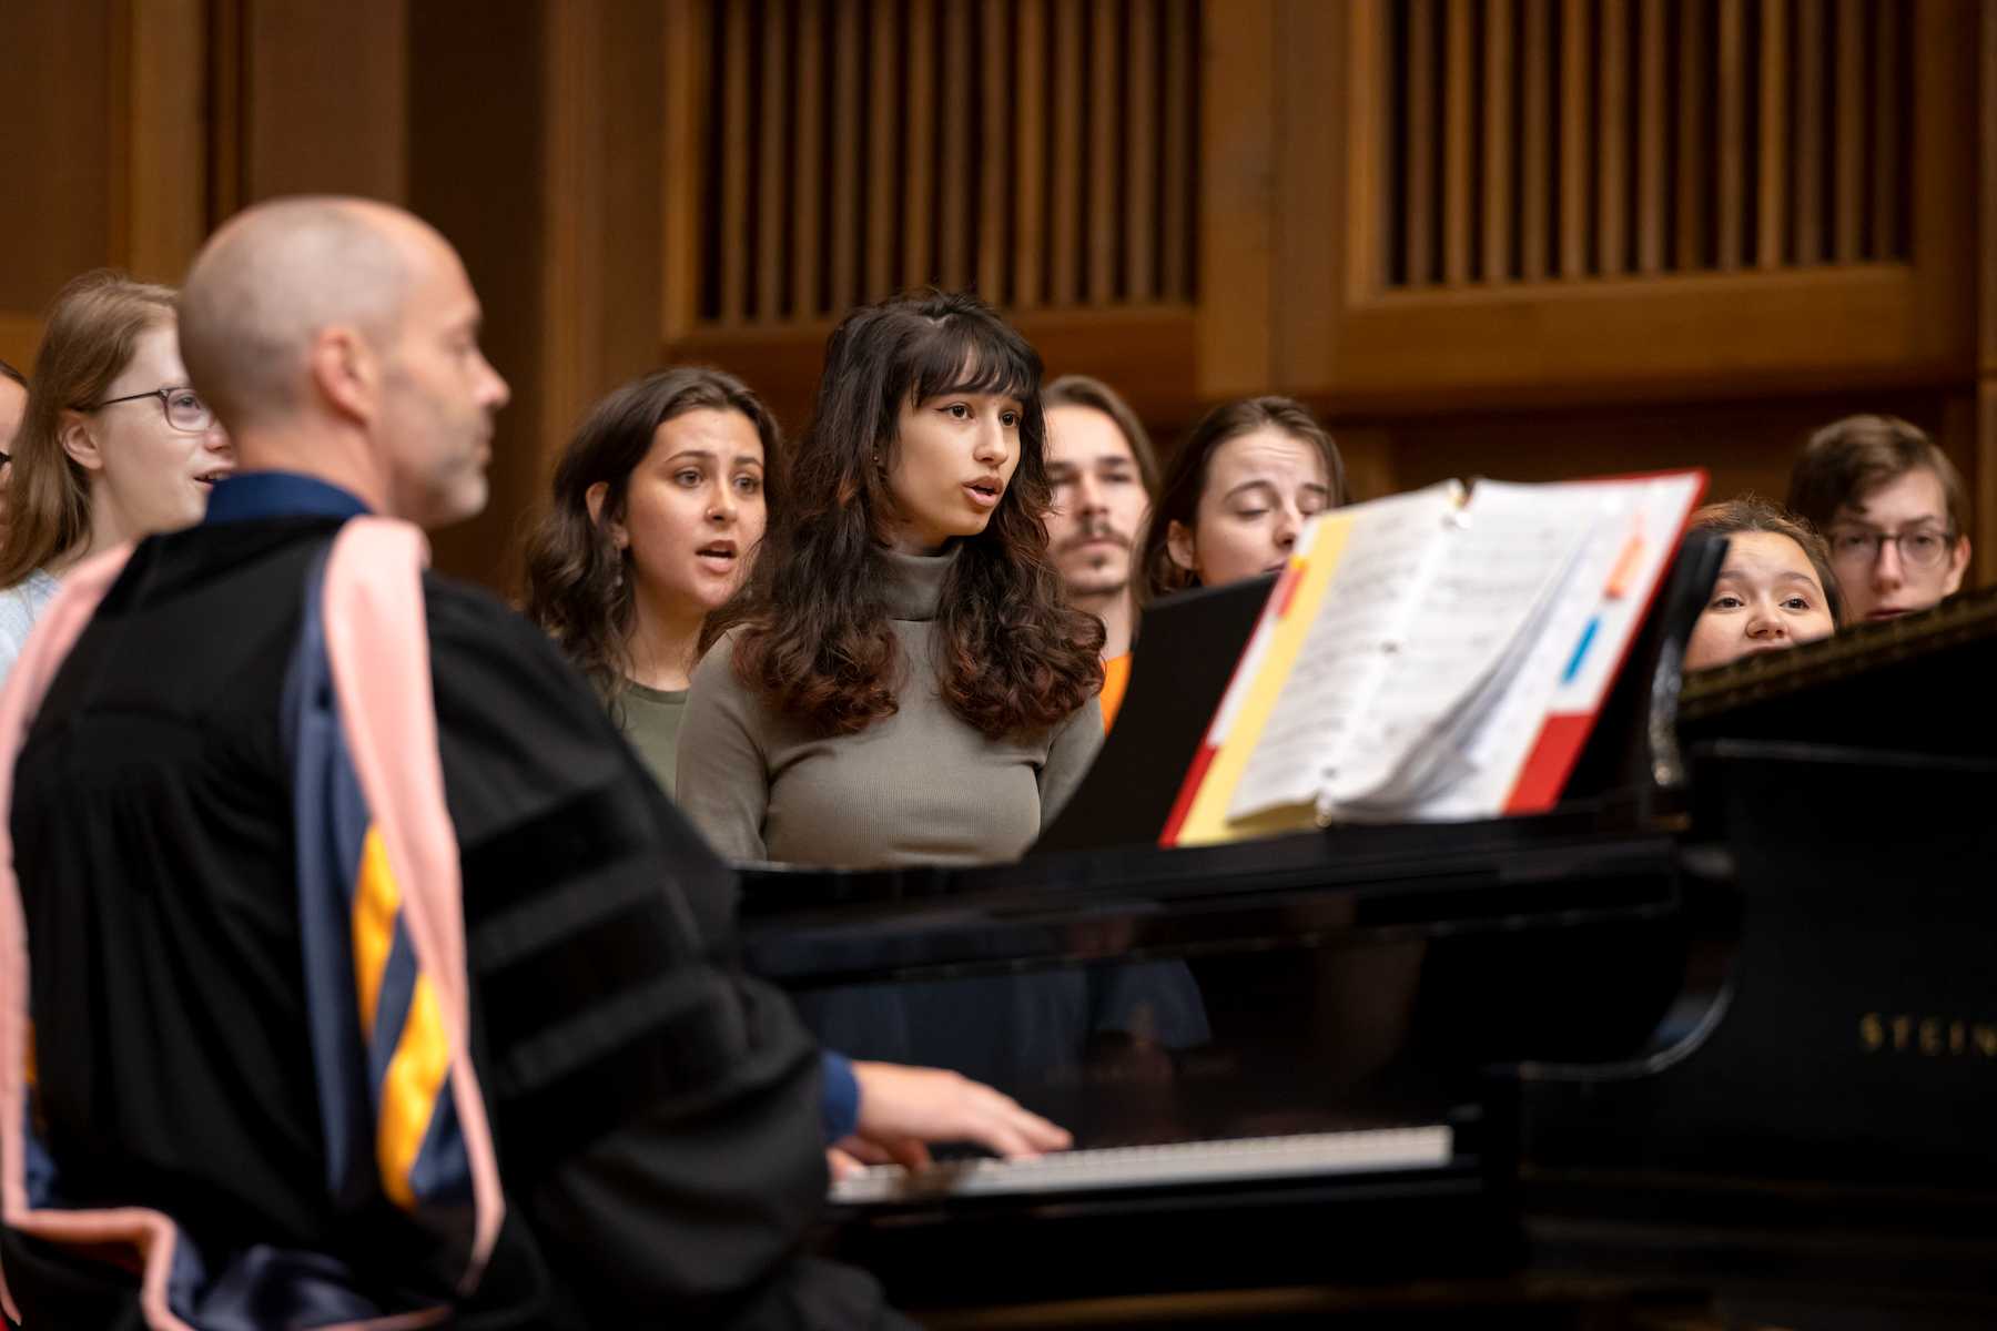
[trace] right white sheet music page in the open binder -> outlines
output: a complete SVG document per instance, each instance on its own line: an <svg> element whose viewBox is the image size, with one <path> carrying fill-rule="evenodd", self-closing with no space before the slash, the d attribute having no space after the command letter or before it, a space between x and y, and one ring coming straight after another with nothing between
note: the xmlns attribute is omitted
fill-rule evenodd
<svg viewBox="0 0 1997 1331"><path fill-rule="evenodd" d="M1598 495L1478 481L1420 589L1392 686L1354 730L1326 782L1332 808L1404 808L1470 770L1464 744L1536 643L1576 555L1596 535Z"/></svg>

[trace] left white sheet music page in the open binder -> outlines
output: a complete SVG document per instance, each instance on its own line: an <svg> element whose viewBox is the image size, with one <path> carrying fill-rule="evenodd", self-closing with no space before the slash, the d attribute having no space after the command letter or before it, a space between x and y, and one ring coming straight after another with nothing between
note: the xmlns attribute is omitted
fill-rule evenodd
<svg viewBox="0 0 1997 1331"><path fill-rule="evenodd" d="M1346 521L1352 531L1288 678L1276 680L1280 692L1234 786L1230 820L1318 802L1406 657L1462 493L1446 481L1316 519Z"/></svg>

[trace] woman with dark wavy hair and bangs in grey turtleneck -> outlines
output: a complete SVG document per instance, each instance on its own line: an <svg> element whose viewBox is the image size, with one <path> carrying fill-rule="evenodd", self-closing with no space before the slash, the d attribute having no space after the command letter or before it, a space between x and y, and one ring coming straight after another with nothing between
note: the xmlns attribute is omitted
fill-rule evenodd
<svg viewBox="0 0 1997 1331"><path fill-rule="evenodd" d="M1046 553L1040 357L973 295L833 331L789 509L687 698L679 802L737 860L1018 856L1102 742L1102 627Z"/></svg>

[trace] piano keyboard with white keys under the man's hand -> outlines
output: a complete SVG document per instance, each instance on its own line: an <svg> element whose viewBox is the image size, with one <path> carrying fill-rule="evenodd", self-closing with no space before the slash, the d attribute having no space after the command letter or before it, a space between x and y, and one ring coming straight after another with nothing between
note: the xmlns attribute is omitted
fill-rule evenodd
<svg viewBox="0 0 1997 1331"><path fill-rule="evenodd" d="M841 1205L879 1205L1434 1169L1450 1163L1452 1145L1450 1129L1436 1125L1122 1145L1058 1151L1040 1159L955 1159L913 1175L901 1165L873 1165L833 1183L831 1199Z"/></svg>

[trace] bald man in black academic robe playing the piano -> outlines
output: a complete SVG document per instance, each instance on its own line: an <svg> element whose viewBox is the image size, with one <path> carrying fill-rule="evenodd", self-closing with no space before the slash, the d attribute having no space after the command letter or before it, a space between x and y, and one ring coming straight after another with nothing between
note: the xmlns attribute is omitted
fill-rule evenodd
<svg viewBox="0 0 1997 1331"><path fill-rule="evenodd" d="M326 704L314 579L355 517L485 503L507 385L479 317L449 243L377 204L264 204L196 259L182 355L240 473L204 525L136 547L12 768L34 1076L0 1261L28 1327L879 1325L871 1277L801 1251L831 1141L1064 1141L953 1074L823 1056L735 970L731 872L597 698L443 577L411 575L433 752L411 732L389 764L441 770L459 956L417 946L435 920L411 922L415 882L397 902L405 864L365 862L351 920L314 914L300 746L322 740L288 720ZM377 1042L395 984L399 1030L443 1032L427 1084ZM349 1084L341 1040L381 1080ZM62 1241L132 1215L164 1227Z"/></svg>

